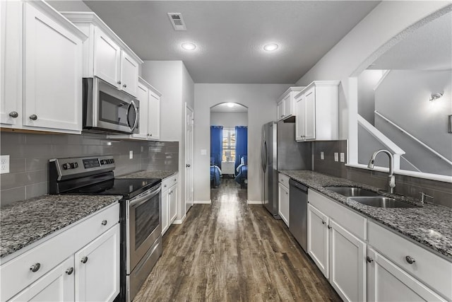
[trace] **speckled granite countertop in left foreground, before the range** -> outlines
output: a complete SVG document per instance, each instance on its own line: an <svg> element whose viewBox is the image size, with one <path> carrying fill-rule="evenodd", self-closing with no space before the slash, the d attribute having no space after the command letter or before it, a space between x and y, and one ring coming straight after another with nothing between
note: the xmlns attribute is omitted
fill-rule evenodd
<svg viewBox="0 0 452 302"><path fill-rule="evenodd" d="M0 258L118 202L119 199L121 196L116 195L43 195L1 207Z"/></svg>

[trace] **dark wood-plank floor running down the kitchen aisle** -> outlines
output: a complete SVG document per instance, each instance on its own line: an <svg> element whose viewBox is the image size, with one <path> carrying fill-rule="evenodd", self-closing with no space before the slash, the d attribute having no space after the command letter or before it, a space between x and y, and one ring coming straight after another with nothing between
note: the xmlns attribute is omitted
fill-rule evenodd
<svg viewBox="0 0 452 302"><path fill-rule="evenodd" d="M163 237L163 254L133 301L340 301L283 221L222 180Z"/></svg>

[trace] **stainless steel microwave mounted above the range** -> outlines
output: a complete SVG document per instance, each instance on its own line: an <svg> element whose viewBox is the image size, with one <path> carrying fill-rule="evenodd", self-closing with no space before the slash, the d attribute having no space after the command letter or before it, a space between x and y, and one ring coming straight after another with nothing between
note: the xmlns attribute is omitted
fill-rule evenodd
<svg viewBox="0 0 452 302"><path fill-rule="evenodd" d="M83 78L83 130L138 133L138 100L98 78Z"/></svg>

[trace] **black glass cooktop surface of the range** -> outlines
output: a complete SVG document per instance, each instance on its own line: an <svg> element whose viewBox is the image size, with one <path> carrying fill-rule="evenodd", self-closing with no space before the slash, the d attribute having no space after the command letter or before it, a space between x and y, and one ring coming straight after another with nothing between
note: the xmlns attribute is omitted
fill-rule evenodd
<svg viewBox="0 0 452 302"><path fill-rule="evenodd" d="M79 187L78 189L66 191L64 194L122 195L124 199L131 199L160 182L162 182L160 178L120 178Z"/></svg>

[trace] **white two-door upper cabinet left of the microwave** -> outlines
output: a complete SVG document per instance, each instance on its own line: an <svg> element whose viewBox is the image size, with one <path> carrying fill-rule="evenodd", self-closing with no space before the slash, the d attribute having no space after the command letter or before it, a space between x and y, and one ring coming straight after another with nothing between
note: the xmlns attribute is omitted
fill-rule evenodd
<svg viewBox="0 0 452 302"><path fill-rule="evenodd" d="M1 126L81 133L86 36L43 1L0 9Z"/></svg>

